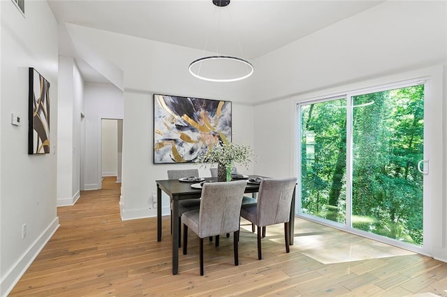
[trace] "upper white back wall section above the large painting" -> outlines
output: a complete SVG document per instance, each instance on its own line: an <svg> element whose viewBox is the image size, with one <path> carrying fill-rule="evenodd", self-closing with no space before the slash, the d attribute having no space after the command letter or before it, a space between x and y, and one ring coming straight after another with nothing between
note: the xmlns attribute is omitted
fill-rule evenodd
<svg viewBox="0 0 447 297"><path fill-rule="evenodd" d="M125 92L155 92L238 102L246 102L249 98L251 78L222 84L198 80L189 73L189 63L202 57L203 50L74 24L67 27L73 43L87 43L89 48L124 71ZM101 73L100 68L96 70Z"/></svg>

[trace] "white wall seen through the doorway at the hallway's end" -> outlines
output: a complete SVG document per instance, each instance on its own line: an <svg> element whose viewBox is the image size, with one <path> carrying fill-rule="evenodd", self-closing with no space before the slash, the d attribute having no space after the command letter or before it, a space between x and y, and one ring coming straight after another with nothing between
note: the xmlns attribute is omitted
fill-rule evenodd
<svg viewBox="0 0 447 297"><path fill-rule="evenodd" d="M102 122L102 175L118 175L118 120Z"/></svg>

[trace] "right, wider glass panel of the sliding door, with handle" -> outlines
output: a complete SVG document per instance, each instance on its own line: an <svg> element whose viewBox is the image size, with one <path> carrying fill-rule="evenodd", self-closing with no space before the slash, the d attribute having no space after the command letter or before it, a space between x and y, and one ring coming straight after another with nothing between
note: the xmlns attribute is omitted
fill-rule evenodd
<svg viewBox="0 0 447 297"><path fill-rule="evenodd" d="M352 99L352 226L422 246L424 86Z"/></svg>

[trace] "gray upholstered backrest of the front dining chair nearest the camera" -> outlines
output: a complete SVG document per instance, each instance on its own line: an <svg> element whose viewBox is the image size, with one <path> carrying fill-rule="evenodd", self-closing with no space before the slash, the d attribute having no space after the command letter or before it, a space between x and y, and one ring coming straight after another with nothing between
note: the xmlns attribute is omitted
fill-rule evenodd
<svg viewBox="0 0 447 297"><path fill-rule="evenodd" d="M240 207L246 186L247 180L203 184L198 223L200 238L239 230Z"/></svg>

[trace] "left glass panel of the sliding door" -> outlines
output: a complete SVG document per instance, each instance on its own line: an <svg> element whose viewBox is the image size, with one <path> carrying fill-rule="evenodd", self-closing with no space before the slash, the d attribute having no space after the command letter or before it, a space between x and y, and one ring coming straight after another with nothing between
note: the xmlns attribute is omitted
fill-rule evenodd
<svg viewBox="0 0 447 297"><path fill-rule="evenodd" d="M346 222L346 99L301 106L301 212Z"/></svg>

